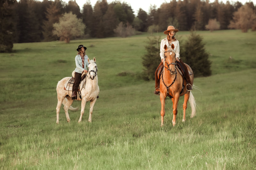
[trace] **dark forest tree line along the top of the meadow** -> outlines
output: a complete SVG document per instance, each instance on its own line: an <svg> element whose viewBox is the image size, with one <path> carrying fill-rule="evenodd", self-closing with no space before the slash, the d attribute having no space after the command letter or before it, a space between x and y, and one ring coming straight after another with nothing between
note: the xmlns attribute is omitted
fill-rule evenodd
<svg viewBox="0 0 256 170"><path fill-rule="evenodd" d="M65 13L76 15L84 23L84 36L81 38L104 38L134 31L162 32L168 25L179 30L205 30L211 26L210 20L217 22L217 29L237 28L238 21L234 20L234 13L244 6L238 1L233 4L227 1L224 4L218 0L213 3L209 0L172 0L161 4L159 8L151 5L148 12L140 8L135 16L132 7L120 1L108 3L106 0L98 0L92 7L87 0L83 9L72 0L68 3L61 0L0 0L0 5L0 51L3 51L6 41L12 44L61 39L53 34L53 25ZM254 4L249 2L246 5L255 15ZM230 23L233 25L230 26ZM205 27L207 24L208 27Z"/></svg>

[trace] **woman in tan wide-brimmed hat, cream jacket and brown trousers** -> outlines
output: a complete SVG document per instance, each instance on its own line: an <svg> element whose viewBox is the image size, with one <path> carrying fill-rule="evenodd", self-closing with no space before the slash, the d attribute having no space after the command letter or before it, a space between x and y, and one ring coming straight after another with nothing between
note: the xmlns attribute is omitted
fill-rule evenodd
<svg viewBox="0 0 256 170"><path fill-rule="evenodd" d="M178 31L179 30L175 29L174 26L168 26L167 30L164 31L164 34L167 34L167 37L161 41L161 45L160 45L161 63L159 64L159 66L157 67L156 72L155 72L155 79L156 79L155 92L154 92L155 94L159 94L159 92L160 92L159 91L159 78L158 78L157 72L158 72L159 68L163 65L163 62L164 62L164 45L167 45L167 47L168 47L168 46L171 46L172 44L174 45L173 50L175 51L175 54L176 54L176 60L178 62L180 62L183 65L183 67L185 68L185 78L187 79L187 82L188 82L188 84L186 85L186 89L187 89L187 91L192 90L192 85L191 85L191 81L189 78L188 69L185 66L185 64L182 62L182 60L180 59L179 41L176 40L176 38L174 37Z"/></svg>

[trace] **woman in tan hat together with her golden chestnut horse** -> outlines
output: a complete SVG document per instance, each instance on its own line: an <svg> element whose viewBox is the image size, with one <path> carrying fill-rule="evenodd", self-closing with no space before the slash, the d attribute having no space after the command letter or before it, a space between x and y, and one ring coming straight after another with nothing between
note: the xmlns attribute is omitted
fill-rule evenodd
<svg viewBox="0 0 256 170"><path fill-rule="evenodd" d="M175 32L179 30L175 29L173 26L168 26L167 30L164 33L167 33L167 38L161 41L160 47L160 56L162 58L162 62L159 64L157 70L161 65L163 65L163 74L162 81L159 84L159 75L157 75L156 70L156 94L160 92L160 100L161 100L161 126L164 125L164 115L165 115L165 100L166 97L170 97L172 99L172 125L176 124L176 115L178 113L177 106L180 99L180 96L184 95L184 103L183 103L183 119L182 122L186 120L186 109L187 102L189 100L191 107L191 118L196 114L196 102L195 98L191 92L194 74L193 70L189 67L188 64L182 63L184 68L187 70L186 78L183 78L180 72L176 70L177 62L181 61L179 57L179 41L175 39ZM188 74L188 70L191 72L191 75ZM187 90L183 89L183 84L186 84ZM157 91L158 90L158 91Z"/></svg>

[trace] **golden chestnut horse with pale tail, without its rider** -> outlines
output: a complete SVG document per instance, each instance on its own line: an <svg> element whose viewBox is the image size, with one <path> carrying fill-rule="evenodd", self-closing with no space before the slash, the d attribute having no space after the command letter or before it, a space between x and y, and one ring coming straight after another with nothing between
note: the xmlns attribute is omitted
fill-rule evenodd
<svg viewBox="0 0 256 170"><path fill-rule="evenodd" d="M187 92L186 85L187 81L184 79L185 89L182 90L182 82L183 77L180 73L177 73L176 70L176 63L175 60L175 52L173 50L174 45L172 44L171 48L164 46L164 68L163 68L163 75L162 81L160 80L160 100L161 100L161 126L164 125L164 115L165 115L165 99L167 96L172 98L172 125L175 126L176 124L176 115L177 115L177 106L180 99L180 96L184 95L184 103L183 103L183 119L182 122L186 120L186 109L187 109L187 102L189 100L191 106L191 118L196 115L196 102L192 92ZM191 72L190 80L191 85L193 85L194 75L192 69L189 67L188 64L185 64L188 68L188 71Z"/></svg>

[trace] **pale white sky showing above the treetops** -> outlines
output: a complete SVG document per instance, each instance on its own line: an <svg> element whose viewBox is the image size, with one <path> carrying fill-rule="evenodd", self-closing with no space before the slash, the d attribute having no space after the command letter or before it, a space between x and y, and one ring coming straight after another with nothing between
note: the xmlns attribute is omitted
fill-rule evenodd
<svg viewBox="0 0 256 170"><path fill-rule="evenodd" d="M69 0L62 0L68 3ZM108 4L113 2L115 0L107 0ZM226 3L227 0L219 0L219 2ZM236 2L237 0L229 0L229 2L232 4L232 1ZM253 2L253 4L256 4L256 0L238 0L242 4L245 4L246 2ZM90 0L92 8L96 4L97 0ZM156 5L156 8L159 8L161 4L164 2L170 2L170 0L120 0L121 3L125 2L126 4L131 5L133 12L135 15L137 15L139 9L143 9L148 13L150 4ZM210 2L214 2L214 0L210 0ZM79 5L80 9L83 9L84 4L86 3L86 0L76 0L76 3Z"/></svg>

